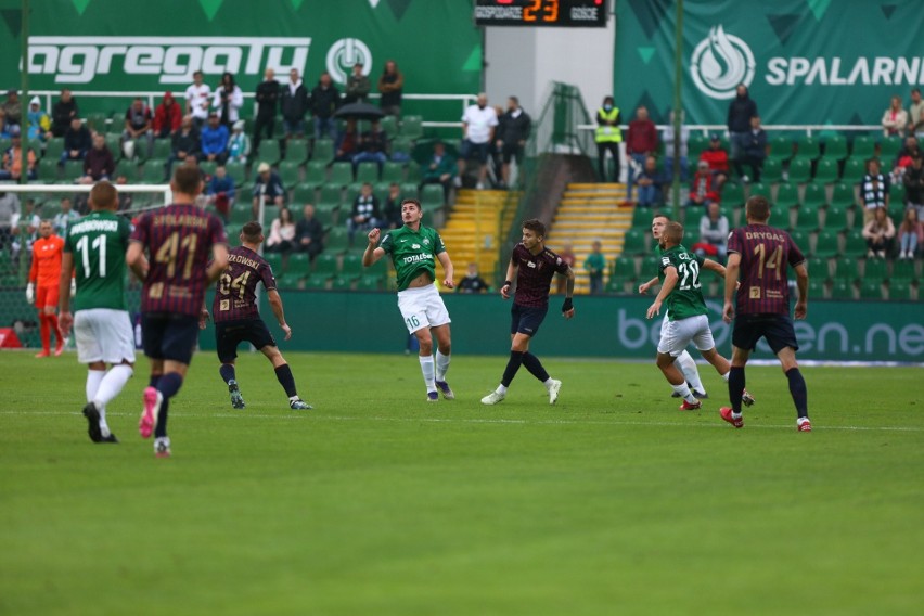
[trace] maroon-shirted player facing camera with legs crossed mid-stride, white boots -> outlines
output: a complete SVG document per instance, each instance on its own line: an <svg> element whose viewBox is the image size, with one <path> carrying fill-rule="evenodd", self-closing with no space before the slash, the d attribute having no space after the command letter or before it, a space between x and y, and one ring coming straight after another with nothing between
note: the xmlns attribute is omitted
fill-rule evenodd
<svg viewBox="0 0 924 616"><path fill-rule="evenodd" d="M562 317L575 316L572 295L575 291L575 272L562 258L546 247L546 226L537 219L523 222L523 241L513 248L506 280L501 287L501 297L510 299L511 286L516 277L516 293L511 308L510 360L503 371L498 388L482 398L483 405L497 405L506 397L506 388L516 376L521 364L538 378L549 392L549 403L559 399L562 382L549 376L539 358L529 352L529 341L539 331L539 325L549 311L549 286L555 273L567 277Z"/></svg>

